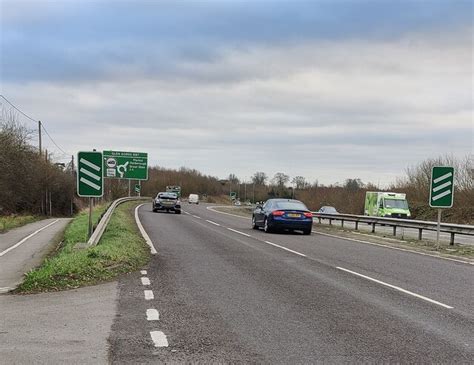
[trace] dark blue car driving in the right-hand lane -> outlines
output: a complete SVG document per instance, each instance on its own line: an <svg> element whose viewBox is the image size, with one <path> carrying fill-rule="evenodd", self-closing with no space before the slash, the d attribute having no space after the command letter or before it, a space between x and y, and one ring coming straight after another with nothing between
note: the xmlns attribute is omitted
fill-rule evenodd
<svg viewBox="0 0 474 365"><path fill-rule="evenodd" d="M263 206L257 205L252 214L252 228L260 227L267 233L286 229L309 235L313 227L313 214L299 200L269 199Z"/></svg>

